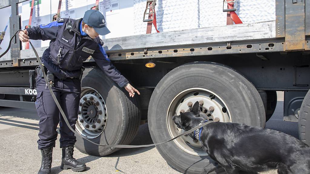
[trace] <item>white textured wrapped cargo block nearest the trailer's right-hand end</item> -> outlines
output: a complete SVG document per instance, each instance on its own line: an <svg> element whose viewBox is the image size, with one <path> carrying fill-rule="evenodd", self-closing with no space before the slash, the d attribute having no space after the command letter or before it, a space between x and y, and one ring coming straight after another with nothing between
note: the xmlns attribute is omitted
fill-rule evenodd
<svg viewBox="0 0 310 174"><path fill-rule="evenodd" d="M236 13L243 24L276 20L276 2L238 0ZM225 26L227 12L223 12L223 0L199 0L199 16L200 28Z"/></svg>

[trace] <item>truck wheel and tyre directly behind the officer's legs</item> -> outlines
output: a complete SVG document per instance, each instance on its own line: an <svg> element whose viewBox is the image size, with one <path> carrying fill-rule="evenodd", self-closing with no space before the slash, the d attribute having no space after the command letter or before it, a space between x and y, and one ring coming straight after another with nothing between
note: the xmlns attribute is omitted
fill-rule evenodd
<svg viewBox="0 0 310 174"><path fill-rule="evenodd" d="M97 144L131 143L141 120L137 96L129 97L97 68L86 68L82 77L77 132ZM96 146L75 135L75 147L85 154L105 156L119 148Z"/></svg>

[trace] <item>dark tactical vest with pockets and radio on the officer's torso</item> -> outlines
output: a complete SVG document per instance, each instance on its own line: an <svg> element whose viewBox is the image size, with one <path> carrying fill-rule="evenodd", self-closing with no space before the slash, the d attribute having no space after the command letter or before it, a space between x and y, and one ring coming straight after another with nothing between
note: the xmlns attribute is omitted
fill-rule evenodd
<svg viewBox="0 0 310 174"><path fill-rule="evenodd" d="M98 49L98 44L103 45L99 37L92 39L89 36L81 36L79 31L81 21L82 18L58 19L58 22L63 22L63 25L58 29L56 39L50 42L50 54L51 61L62 70L80 69L82 63ZM72 27L68 27L68 23Z"/></svg>

